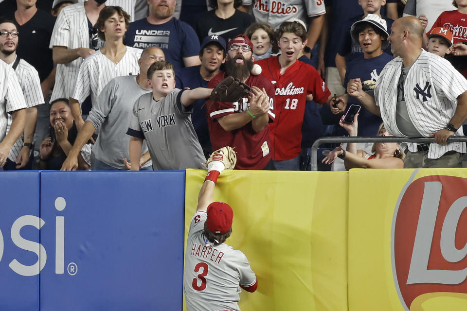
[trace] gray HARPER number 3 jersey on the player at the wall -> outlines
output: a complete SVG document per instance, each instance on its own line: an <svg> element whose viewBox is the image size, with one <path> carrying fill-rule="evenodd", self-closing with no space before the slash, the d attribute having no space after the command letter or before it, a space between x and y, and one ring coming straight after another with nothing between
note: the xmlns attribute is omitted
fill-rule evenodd
<svg viewBox="0 0 467 311"><path fill-rule="evenodd" d="M256 287L256 276L241 251L226 243L206 241L206 218L205 211L196 212L188 232L183 274L186 310L240 310L240 285L246 289Z"/></svg>

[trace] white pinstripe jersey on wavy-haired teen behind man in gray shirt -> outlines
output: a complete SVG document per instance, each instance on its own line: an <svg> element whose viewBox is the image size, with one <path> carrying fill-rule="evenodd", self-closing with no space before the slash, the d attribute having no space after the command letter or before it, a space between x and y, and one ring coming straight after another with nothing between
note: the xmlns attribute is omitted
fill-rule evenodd
<svg viewBox="0 0 467 311"><path fill-rule="evenodd" d="M92 103L96 103L97 96L110 80L120 76L138 75L140 71L138 60L142 52L141 49L127 46L125 55L117 64L101 51L91 54L79 68L76 85L70 97L83 103L86 97L91 95Z"/></svg>

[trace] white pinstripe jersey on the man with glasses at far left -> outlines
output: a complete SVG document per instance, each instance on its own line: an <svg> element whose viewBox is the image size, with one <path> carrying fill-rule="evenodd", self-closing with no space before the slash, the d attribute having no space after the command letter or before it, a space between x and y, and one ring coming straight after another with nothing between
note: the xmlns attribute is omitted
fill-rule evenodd
<svg viewBox="0 0 467 311"><path fill-rule="evenodd" d="M18 57L18 56L17 56ZM16 58L15 58L16 61ZM9 66L13 68L13 61ZM37 70L24 59L20 59L18 66L15 69L16 76L18 77L19 85L23 90L24 99L28 108L44 104L44 96L40 87L39 73ZM13 118L8 115L8 128L7 133L10 131ZM18 158L19 152L23 148L23 135L11 147L8 158L13 162Z"/></svg>

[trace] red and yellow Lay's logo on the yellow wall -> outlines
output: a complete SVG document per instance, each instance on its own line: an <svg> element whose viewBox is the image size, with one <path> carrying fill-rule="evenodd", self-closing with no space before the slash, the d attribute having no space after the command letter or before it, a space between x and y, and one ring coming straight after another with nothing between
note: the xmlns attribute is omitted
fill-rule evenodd
<svg viewBox="0 0 467 311"><path fill-rule="evenodd" d="M395 208L391 256L405 310L467 310L466 178L435 175L409 185Z"/></svg>

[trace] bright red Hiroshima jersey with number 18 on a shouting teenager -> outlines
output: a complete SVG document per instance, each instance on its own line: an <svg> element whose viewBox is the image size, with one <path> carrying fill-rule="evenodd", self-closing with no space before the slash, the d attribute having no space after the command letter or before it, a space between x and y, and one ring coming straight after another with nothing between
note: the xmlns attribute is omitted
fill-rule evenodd
<svg viewBox="0 0 467 311"><path fill-rule="evenodd" d="M281 75L279 56L269 57L256 64L263 69L275 87L275 122L271 124L270 140L273 160L289 160L300 154L302 122L305 114L306 94L313 101L324 104L331 93L313 66L296 60Z"/></svg>

